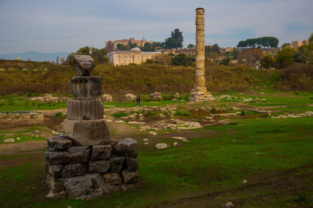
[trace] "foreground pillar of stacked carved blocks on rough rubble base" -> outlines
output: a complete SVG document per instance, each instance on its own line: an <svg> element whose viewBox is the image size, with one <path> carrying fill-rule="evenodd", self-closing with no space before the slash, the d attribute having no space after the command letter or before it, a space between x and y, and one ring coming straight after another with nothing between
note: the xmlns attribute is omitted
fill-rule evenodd
<svg viewBox="0 0 313 208"><path fill-rule="evenodd" d="M48 138L45 154L48 197L80 197L105 190L106 184L136 182L138 143L131 138L111 141L100 100L102 77L91 76L93 59L74 55L69 57L69 63L78 75L70 83L76 99L68 101L63 133ZM80 85L81 82L84 84Z"/></svg>

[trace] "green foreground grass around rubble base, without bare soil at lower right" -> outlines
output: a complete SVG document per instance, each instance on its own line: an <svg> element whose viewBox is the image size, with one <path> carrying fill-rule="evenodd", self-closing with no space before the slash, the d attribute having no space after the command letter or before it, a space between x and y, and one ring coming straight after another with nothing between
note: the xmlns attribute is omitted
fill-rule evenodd
<svg viewBox="0 0 313 208"><path fill-rule="evenodd" d="M202 128L197 132L199 134L197 137L187 134L186 137L190 142L172 139L170 138L172 135L159 138L158 143L171 144L177 141L182 144L163 150L144 145L142 140L138 140L140 150L138 172L142 183L133 190L110 192L89 201L48 199L44 197L47 194L45 191L47 185L44 184L44 162L29 162L0 170L2 180L0 200L6 202L6 207L156 207L160 205L164 207L175 204L175 199L181 197L201 195L208 190L210 192L227 190L232 196L246 201L247 197L251 196L251 192L243 191L242 195L238 196L238 193L233 191L244 186L241 183L244 179L250 182L255 180L254 177L263 174L267 177L266 172L279 173L290 168L303 170L297 173L299 177L312 171L312 167L308 169L301 169L301 167L313 163L313 150L310 148L313 136L310 127L313 118L232 119L232 122L240 125ZM207 130L213 132L208 134ZM260 154L254 154L255 152ZM41 188L42 193L38 189L27 189L24 192L27 186L37 186L38 189ZM11 196L9 199L8 189L14 190L9 192ZM21 193L23 193L22 198ZM264 196L274 192L262 190L253 193ZM297 191L296 194L285 194L279 196L279 199L297 199L299 193ZM310 196L308 190L301 190L301 193ZM225 203L224 198L216 200ZM278 207L277 202L263 203ZM295 202L293 205L301 205L301 203ZM258 206L262 207L260 204ZM251 201L248 201L247 207L254 207Z"/></svg>

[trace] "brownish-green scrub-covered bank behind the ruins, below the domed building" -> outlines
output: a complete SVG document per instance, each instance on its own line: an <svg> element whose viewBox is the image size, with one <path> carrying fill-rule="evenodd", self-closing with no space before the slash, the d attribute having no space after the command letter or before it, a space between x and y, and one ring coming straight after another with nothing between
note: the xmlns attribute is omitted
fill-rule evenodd
<svg viewBox="0 0 313 208"><path fill-rule="evenodd" d="M54 65L47 62L0 60L0 94L26 94L27 92L69 92L69 81L76 75L72 66ZM16 70L9 70L14 68ZM27 71L23 71L27 68ZM43 70L43 69L48 70ZM37 69L38 71L33 71ZM280 80L279 71L250 70L244 66L218 65L207 88L215 91L249 90L265 85L276 87ZM96 65L93 75L102 76L102 92L139 94L161 92L190 92L194 85L195 69L192 67L168 67L161 64L114 66Z"/></svg>

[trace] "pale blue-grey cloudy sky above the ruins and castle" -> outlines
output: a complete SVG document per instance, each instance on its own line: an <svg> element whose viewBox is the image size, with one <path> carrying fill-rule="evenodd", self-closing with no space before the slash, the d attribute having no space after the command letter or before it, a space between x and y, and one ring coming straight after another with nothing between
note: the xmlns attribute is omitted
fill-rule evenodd
<svg viewBox="0 0 313 208"><path fill-rule="evenodd" d="M134 37L164 41L178 28L195 45L195 9L205 9L205 42L235 47L273 36L279 46L313 32L312 0L0 0L0 54L75 52Z"/></svg>

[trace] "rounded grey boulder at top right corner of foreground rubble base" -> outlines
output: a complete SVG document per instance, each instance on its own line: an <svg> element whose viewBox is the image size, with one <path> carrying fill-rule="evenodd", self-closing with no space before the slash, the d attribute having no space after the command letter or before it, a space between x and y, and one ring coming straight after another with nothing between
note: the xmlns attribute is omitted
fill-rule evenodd
<svg viewBox="0 0 313 208"><path fill-rule="evenodd" d="M118 156L137 157L138 155L137 141L129 138L122 139L112 148L113 152Z"/></svg>

